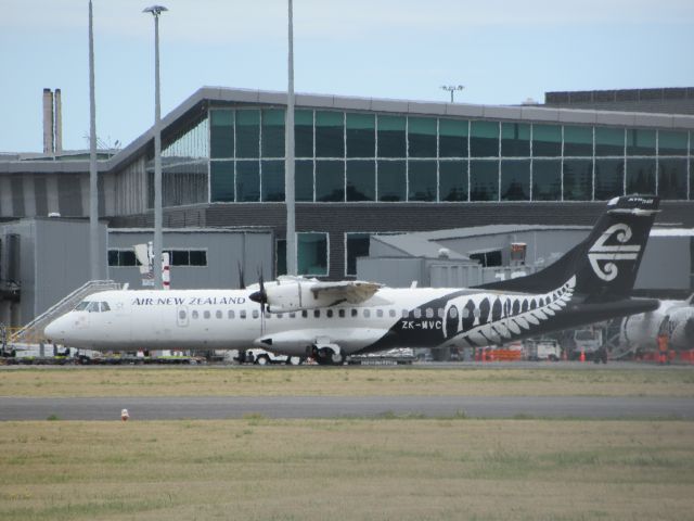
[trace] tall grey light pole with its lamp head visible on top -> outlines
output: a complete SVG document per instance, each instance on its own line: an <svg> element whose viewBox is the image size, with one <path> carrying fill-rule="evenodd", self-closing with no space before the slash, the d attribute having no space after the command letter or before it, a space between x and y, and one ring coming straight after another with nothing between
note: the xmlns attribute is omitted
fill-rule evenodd
<svg viewBox="0 0 694 521"><path fill-rule="evenodd" d="M154 244L152 269L154 270L154 289L163 289L162 284L162 106L159 101L159 15L168 11L164 5L152 5L142 10L154 16Z"/></svg>

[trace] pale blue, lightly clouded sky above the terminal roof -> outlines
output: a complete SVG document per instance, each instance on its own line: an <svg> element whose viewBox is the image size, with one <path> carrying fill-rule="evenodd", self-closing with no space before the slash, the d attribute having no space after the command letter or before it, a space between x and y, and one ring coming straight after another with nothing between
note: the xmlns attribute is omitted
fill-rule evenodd
<svg viewBox="0 0 694 521"><path fill-rule="evenodd" d="M286 0L159 0L162 115L204 86L284 91ZM152 0L93 0L97 134L154 120ZM27 7L30 5L30 9ZM0 152L89 148L88 0L0 0ZM294 0L295 91L519 104L557 90L693 87L692 0Z"/></svg>

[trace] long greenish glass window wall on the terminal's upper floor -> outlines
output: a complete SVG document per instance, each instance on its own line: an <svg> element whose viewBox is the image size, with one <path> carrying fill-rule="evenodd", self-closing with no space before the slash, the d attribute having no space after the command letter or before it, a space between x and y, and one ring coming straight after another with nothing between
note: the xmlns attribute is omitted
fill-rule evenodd
<svg viewBox="0 0 694 521"><path fill-rule="evenodd" d="M282 107L210 109L209 125L184 139L203 155L191 154L179 174L206 185L208 162L210 202L282 202L284 116ZM691 139L677 130L300 109L296 201L686 200ZM206 187L201 194L170 185L169 202L205 199Z"/></svg>

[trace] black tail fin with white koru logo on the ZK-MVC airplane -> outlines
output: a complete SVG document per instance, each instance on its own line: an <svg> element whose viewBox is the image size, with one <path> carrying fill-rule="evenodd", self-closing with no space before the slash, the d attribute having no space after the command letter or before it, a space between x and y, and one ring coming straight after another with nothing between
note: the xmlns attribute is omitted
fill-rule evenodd
<svg viewBox="0 0 694 521"><path fill-rule="evenodd" d="M599 300L629 296L658 203L658 198L651 195L615 198L607 203L590 236L551 266L527 277L479 288L547 293L575 275L577 294Z"/></svg>

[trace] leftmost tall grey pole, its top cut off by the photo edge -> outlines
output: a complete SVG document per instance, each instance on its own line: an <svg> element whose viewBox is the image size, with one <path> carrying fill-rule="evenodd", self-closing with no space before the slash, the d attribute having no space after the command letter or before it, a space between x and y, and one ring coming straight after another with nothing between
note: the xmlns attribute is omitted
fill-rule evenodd
<svg viewBox="0 0 694 521"><path fill-rule="evenodd" d="M89 275L99 280L99 182L97 178L97 101L94 96L93 10L89 0Z"/></svg>

